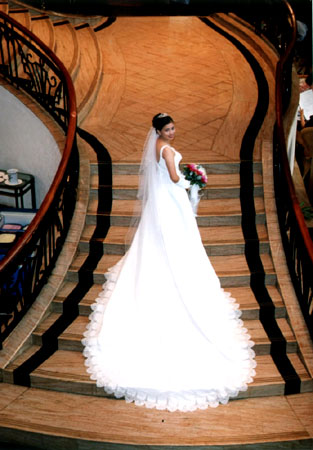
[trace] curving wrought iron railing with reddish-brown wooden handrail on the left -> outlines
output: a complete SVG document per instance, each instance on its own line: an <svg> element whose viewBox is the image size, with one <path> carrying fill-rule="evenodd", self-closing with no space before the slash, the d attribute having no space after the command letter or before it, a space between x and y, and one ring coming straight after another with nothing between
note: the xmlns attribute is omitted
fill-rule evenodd
<svg viewBox="0 0 313 450"><path fill-rule="evenodd" d="M38 296L62 249L78 182L76 100L62 62L35 35L0 12L0 74L25 91L63 128L62 159L25 233L0 262L0 348Z"/></svg>

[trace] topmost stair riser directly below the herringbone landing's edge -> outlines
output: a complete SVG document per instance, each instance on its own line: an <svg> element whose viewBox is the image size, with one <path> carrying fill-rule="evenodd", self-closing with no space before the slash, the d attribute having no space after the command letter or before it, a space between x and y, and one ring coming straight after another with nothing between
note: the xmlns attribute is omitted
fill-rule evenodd
<svg viewBox="0 0 313 450"><path fill-rule="evenodd" d="M190 161L183 160L183 164L180 165L182 168L185 164L188 164ZM107 163L91 162L90 164L90 172L91 174L98 174L99 170L106 166ZM205 168L208 175L210 174L225 174L225 173L239 173L240 170L240 162L203 162L201 165ZM139 173L140 161L138 162L114 162L110 165L112 167L113 175L137 175ZM262 173L262 163L261 161L253 162L253 172L254 173Z"/></svg>

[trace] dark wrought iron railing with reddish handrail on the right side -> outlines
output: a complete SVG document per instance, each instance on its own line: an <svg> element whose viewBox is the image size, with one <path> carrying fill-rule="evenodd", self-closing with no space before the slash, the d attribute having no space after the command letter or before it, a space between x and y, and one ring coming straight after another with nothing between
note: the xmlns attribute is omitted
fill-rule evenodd
<svg viewBox="0 0 313 450"><path fill-rule="evenodd" d="M276 126L274 130L274 180L278 218L287 263L297 297L313 339L313 242L301 211L287 157L283 118L291 94L296 21L290 5L286 28L280 33L280 60L276 68Z"/></svg>

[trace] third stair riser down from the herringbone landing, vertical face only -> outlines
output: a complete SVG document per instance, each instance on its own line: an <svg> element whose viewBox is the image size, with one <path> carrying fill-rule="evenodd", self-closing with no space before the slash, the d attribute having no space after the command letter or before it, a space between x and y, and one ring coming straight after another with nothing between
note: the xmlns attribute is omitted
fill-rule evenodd
<svg viewBox="0 0 313 450"><path fill-rule="evenodd" d="M128 227L131 222L131 217L127 216L110 216L110 224L115 227ZM256 224L265 224L265 215L257 214ZM87 225L96 225L97 216L88 214L86 216ZM241 215L233 216L201 216L197 217L197 224L199 227L219 227L219 226L239 226L241 225Z"/></svg>

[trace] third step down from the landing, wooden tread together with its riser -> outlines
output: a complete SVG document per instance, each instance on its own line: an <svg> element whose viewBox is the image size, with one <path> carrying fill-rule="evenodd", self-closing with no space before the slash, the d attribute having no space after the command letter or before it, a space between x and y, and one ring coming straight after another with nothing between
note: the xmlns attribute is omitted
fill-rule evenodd
<svg viewBox="0 0 313 450"><path fill-rule="evenodd" d="M263 197L254 199L256 223L264 224L265 208ZM111 212L98 213L98 198L90 197L86 216L87 225L95 225L98 216L110 216L113 226L129 226L136 200L113 200ZM239 198L201 199L198 207L198 226L227 226L241 224L241 205Z"/></svg>

